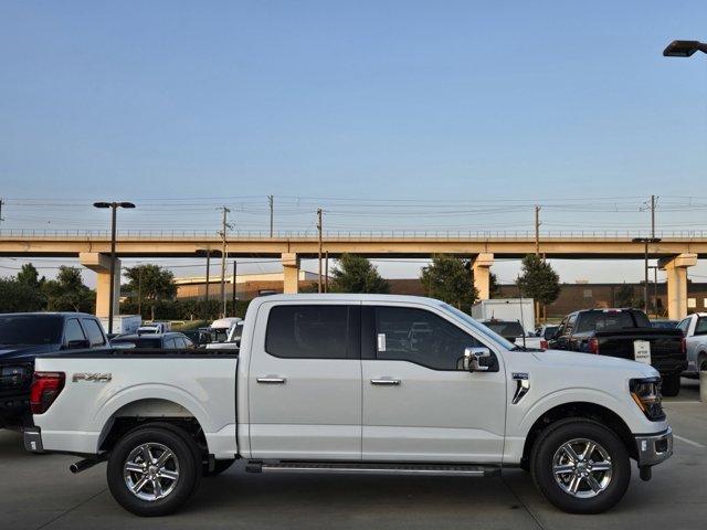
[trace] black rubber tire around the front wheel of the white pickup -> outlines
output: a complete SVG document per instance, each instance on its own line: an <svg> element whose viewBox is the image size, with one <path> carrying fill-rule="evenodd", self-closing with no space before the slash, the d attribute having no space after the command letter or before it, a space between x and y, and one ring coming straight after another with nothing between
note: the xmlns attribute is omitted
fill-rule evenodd
<svg viewBox="0 0 707 530"><path fill-rule="evenodd" d="M590 491L588 478L579 478L580 487L576 489L579 495L587 497L572 495L563 489L563 487L571 488L571 477L574 471L558 475L560 478L557 480L553 471L556 457L564 454L561 447L578 439L598 444L609 457L609 460L604 459L604 462L609 463L611 469L609 478L605 471L589 471L589 476L600 486L604 479L608 480L605 489L599 492ZM600 453L595 452L592 455L600 455ZM587 466L587 462L590 462L597 465L592 455L584 460L580 459L578 464L583 462L583 466ZM559 509L570 513L601 513L613 508L626 492L631 480L631 464L626 447L612 431L591 420L571 417L553 423L540 433L530 455L530 474L540 492ZM568 479L569 483L564 483ZM564 486L560 486L560 481Z"/></svg>

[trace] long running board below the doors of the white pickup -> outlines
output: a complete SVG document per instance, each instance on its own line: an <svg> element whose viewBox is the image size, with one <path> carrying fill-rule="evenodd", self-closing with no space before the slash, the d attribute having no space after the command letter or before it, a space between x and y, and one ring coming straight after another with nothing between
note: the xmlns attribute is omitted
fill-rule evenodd
<svg viewBox="0 0 707 530"><path fill-rule="evenodd" d="M262 462L250 460L249 473L345 473L356 475L424 475L489 477L500 475L500 467L467 464L394 464L371 462Z"/></svg>

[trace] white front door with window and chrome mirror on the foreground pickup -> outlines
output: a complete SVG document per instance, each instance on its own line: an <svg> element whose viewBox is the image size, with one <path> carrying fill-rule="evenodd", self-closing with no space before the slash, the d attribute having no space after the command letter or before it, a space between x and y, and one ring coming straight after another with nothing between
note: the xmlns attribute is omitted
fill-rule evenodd
<svg viewBox="0 0 707 530"><path fill-rule="evenodd" d="M502 360L463 370L464 349L486 344L442 310L365 305L362 316L363 459L500 462Z"/></svg>

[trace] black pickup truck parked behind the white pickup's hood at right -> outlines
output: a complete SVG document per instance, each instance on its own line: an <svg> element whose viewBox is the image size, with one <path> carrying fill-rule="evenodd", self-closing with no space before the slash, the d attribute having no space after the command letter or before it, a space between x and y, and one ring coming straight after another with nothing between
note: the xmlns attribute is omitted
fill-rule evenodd
<svg viewBox="0 0 707 530"><path fill-rule="evenodd" d="M677 395L687 367L679 329L651 326L639 309L587 309L568 315L549 341L556 350L581 351L650 363L663 379L663 395Z"/></svg>

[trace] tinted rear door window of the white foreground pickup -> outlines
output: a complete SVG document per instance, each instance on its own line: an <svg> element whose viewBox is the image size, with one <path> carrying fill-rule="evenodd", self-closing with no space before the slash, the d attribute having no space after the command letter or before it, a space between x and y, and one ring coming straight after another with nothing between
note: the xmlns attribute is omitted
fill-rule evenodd
<svg viewBox="0 0 707 530"><path fill-rule="evenodd" d="M346 359L348 328L348 306L276 306L267 319L265 351L291 359Z"/></svg>

